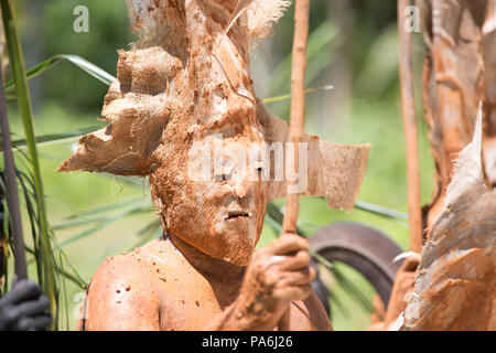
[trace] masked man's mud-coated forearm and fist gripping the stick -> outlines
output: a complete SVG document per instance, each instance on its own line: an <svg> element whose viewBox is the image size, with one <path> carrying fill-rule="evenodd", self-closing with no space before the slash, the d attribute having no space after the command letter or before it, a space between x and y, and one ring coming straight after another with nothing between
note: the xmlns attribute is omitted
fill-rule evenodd
<svg viewBox="0 0 496 353"><path fill-rule="evenodd" d="M206 330L272 330L292 301L311 296L314 278L309 242L281 236L254 254L239 297Z"/></svg>

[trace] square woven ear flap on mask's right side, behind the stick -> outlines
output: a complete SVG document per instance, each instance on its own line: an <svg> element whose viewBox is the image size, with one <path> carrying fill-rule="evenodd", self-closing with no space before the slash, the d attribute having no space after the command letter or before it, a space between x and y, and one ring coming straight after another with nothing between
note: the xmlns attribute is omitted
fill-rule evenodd
<svg viewBox="0 0 496 353"><path fill-rule="evenodd" d="M269 143L289 142L289 125L284 120L259 115ZM315 135L304 133L303 142L308 143L306 180L303 195L326 196L328 206L337 210L353 210L360 190L362 181L368 165L370 145L345 146L321 141ZM283 145L284 146L284 145ZM284 148L284 157L288 150ZM274 156L271 154L271 167ZM285 175L284 158L284 175ZM287 178L283 181L270 181L269 201L285 197Z"/></svg>

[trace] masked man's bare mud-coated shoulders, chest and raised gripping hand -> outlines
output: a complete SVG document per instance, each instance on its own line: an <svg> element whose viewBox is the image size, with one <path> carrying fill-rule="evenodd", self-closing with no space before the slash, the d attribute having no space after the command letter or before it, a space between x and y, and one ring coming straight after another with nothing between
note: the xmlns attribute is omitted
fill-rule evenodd
<svg viewBox="0 0 496 353"><path fill-rule="evenodd" d="M105 260L93 277L79 328L272 330L292 301L291 330L328 330L309 286L314 274L306 247L296 236L281 237L256 252L245 268L174 237L154 240Z"/></svg>

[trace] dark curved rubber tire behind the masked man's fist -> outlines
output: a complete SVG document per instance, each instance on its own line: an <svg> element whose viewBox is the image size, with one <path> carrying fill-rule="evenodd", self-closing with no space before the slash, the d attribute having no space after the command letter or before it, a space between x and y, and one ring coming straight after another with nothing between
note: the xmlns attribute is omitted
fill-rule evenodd
<svg viewBox="0 0 496 353"><path fill-rule="evenodd" d="M392 260L403 250L386 234L358 223L337 222L317 231L310 247L330 263L344 263L360 272L387 308L396 272L402 264ZM312 287L330 312L325 286L317 278Z"/></svg>

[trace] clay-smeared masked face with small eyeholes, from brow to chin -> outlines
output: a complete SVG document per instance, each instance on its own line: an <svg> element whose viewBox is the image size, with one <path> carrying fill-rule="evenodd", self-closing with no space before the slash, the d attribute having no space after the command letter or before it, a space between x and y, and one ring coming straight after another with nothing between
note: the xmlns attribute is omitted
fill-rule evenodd
<svg viewBox="0 0 496 353"><path fill-rule="evenodd" d="M260 237L268 195L261 178L265 137L255 108L247 106L237 122L227 117L187 148L169 150L151 176L160 185L152 192L160 194L168 232L238 266L248 264Z"/></svg>

